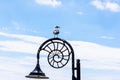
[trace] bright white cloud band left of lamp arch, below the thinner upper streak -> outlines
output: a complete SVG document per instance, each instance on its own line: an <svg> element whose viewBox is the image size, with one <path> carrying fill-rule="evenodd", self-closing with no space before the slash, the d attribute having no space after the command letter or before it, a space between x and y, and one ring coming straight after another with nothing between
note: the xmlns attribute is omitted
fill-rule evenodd
<svg viewBox="0 0 120 80"><path fill-rule="evenodd" d="M0 41L1 51L36 53L38 45L24 41Z"/></svg>

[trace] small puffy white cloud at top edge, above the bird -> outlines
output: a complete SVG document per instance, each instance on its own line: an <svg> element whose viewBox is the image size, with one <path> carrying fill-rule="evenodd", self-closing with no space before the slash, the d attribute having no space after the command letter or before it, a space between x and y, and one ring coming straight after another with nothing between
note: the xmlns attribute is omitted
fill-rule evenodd
<svg viewBox="0 0 120 80"><path fill-rule="evenodd" d="M39 5L58 7L62 4L59 0L35 0Z"/></svg>

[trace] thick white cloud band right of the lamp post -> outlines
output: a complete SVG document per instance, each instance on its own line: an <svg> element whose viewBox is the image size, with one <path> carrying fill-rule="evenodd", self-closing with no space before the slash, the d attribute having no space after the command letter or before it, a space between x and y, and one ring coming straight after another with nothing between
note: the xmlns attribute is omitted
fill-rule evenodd
<svg viewBox="0 0 120 80"><path fill-rule="evenodd" d="M71 42L77 58L85 68L120 70L120 49L90 42Z"/></svg>

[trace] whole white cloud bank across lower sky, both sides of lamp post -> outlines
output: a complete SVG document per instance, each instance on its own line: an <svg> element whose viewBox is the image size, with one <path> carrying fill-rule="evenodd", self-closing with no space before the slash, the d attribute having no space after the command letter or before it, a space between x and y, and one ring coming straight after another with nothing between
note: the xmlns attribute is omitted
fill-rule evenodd
<svg viewBox="0 0 120 80"><path fill-rule="evenodd" d="M34 37L29 35L20 35L20 34L8 34L0 32L0 36L8 37L7 40L0 40L0 51L12 51L16 52L25 52L25 53L34 53L36 55L37 49L40 46L39 43L44 42L46 39L41 37ZM12 40L9 40L12 38ZM13 40L14 38L18 40ZM33 41L32 41L33 40ZM39 42L40 41L40 42ZM120 71L120 49L111 48L95 43L84 42L84 41L69 41L73 46L75 51L75 58L81 59L82 69L94 69L94 70L114 70ZM21 54L22 55L22 54ZM1 56L1 53L0 53ZM41 58L41 69L46 73L49 80L70 80L71 79L71 61L68 63L67 68L60 70L55 70L52 67L48 66L49 64L45 61L45 57ZM24 76L29 74L36 64L36 57L0 57L0 75L2 80L29 80ZM45 63L46 62L46 63ZM9 66L9 67L6 67ZM66 66L65 66L66 67ZM51 73L52 71L52 73ZM63 74L64 73L64 74ZM111 72L112 73L112 72ZM96 73L97 74L97 73ZM4 75L8 75L5 77ZM53 76L54 75L54 76ZM84 74L82 74L84 76ZM84 80L100 80L98 76L87 76L88 79ZM105 74L105 77L108 76ZM110 76L111 79L119 80L119 76L115 75ZM108 77L105 77L108 79ZM102 80L105 80L102 78Z"/></svg>

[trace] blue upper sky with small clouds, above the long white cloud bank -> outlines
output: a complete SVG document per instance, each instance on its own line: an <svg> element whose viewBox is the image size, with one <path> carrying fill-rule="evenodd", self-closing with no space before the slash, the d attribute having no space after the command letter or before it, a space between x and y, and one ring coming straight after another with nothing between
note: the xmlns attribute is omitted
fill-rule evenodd
<svg viewBox="0 0 120 80"><path fill-rule="evenodd" d="M4 0L0 7L0 31L52 37L58 25L65 39L120 47L119 0Z"/></svg>

